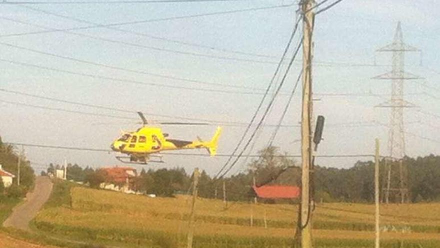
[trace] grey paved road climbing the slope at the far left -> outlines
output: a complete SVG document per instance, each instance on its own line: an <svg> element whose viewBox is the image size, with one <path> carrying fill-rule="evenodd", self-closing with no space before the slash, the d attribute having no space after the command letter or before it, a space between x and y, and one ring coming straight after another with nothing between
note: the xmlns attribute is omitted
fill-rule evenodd
<svg viewBox="0 0 440 248"><path fill-rule="evenodd" d="M29 221L47 201L51 191L50 179L46 176L37 176L33 191L27 193L26 200L22 204L13 208L12 214L3 222L3 226L29 231Z"/></svg>

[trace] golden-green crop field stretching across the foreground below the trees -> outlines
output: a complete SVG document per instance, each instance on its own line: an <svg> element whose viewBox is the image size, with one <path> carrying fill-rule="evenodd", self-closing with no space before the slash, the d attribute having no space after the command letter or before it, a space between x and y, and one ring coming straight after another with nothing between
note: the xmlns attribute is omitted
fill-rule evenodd
<svg viewBox="0 0 440 248"><path fill-rule="evenodd" d="M56 184L33 227L58 237L124 247L183 247L189 198L148 198ZM381 247L440 247L440 204L381 206ZM372 247L374 207L323 203L313 212L315 247ZM297 207L199 198L195 247L291 247ZM252 216L252 226L250 226ZM266 216L266 227L264 224Z"/></svg>

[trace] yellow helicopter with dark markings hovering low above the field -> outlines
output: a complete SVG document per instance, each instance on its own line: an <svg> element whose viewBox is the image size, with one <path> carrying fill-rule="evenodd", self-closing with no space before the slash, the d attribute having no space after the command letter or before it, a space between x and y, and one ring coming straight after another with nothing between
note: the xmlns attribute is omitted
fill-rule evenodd
<svg viewBox="0 0 440 248"><path fill-rule="evenodd" d="M205 148L210 156L214 156L217 150L218 138L221 127L217 127L214 136L210 141L202 141L199 137L195 141L169 139L167 133L162 133L158 127L146 126L148 122L141 112L137 112L142 119L143 126L135 132L123 132L122 136L116 139L110 148L113 151L127 154L128 156L116 156L116 159L123 163L146 164L147 162L163 162L158 154L161 151L200 149ZM160 122L166 125L207 125L206 123L180 123ZM151 160L159 158L159 160Z"/></svg>

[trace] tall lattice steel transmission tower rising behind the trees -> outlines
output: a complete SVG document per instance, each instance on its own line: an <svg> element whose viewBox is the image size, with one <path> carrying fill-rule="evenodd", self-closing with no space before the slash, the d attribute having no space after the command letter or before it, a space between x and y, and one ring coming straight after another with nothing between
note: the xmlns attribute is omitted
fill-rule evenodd
<svg viewBox="0 0 440 248"><path fill-rule="evenodd" d="M404 55L405 52L415 51L419 50L403 43L400 22L397 23L393 42L377 50L377 52L392 53L392 70L374 77L375 79L391 80L391 99L376 106L391 109L388 131L388 151L390 159L385 159L387 175L386 188L383 189L384 201L386 203L389 202L390 193L394 193L394 199L400 196L402 203L407 198L407 174L404 173L402 167L402 159L405 156L403 108L415 106L403 99L403 83L405 80L419 79L419 77L404 71ZM392 171L393 165L397 165L397 162L399 164L398 176L396 175L397 173Z"/></svg>

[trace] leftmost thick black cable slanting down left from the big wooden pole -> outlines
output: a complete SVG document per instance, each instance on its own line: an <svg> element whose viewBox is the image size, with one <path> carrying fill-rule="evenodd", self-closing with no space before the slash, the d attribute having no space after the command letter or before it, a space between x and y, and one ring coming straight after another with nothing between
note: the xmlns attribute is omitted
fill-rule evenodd
<svg viewBox="0 0 440 248"><path fill-rule="evenodd" d="M257 108L256 108L256 110L255 110L255 112L254 112L254 114L253 114L253 116L252 116L252 118L251 118L249 124L247 125L246 129L244 130L243 135L241 136L240 140L238 141L237 145L235 146L234 150L232 151L232 154L235 154L235 152L238 150L238 148L239 148L239 146L241 145L241 143L243 142L243 140L244 140L244 138L245 138L247 132L249 131L250 126L253 124L253 121L255 120L255 118L256 118L256 116L257 116L259 110L261 109L261 107L262 107L262 105L263 105L263 102L264 102L264 100L265 100L265 98L266 98L266 96L267 96L267 93L268 93L268 91L270 90L271 86L273 85L274 79L275 79L276 75L278 74L278 72L279 72L279 70L280 70L280 67L281 67L282 61L284 60L285 55L287 54L287 51L288 51L288 49L290 48L290 44L291 44L291 42L293 41L293 37L295 36L296 31L297 31L297 29L298 29L299 21L300 21L300 19L298 18L298 19L296 20L295 25L294 25L293 31L292 31L292 33L291 33L291 35L290 35L290 39L289 39L289 41L287 42L287 45L286 45L286 47L285 47L285 49L284 49L284 52L283 52L283 54L282 54L282 56L281 56L281 59L279 60L278 66L276 67L276 70L275 70L275 72L273 73L273 76L272 76L272 78L270 79L270 82L269 82L269 84L268 84L268 86L267 86L267 88L266 88L266 91L265 91L263 97L261 98L261 101L259 102L259 104L258 104L258 106L257 106ZM229 161L230 161L231 159L232 159L232 156L230 156L230 157L227 159L227 161L223 164L223 166L220 168L220 170L217 172L217 174L214 176L214 178L216 178L216 177L221 173L221 171L227 166L227 164L229 163Z"/></svg>

